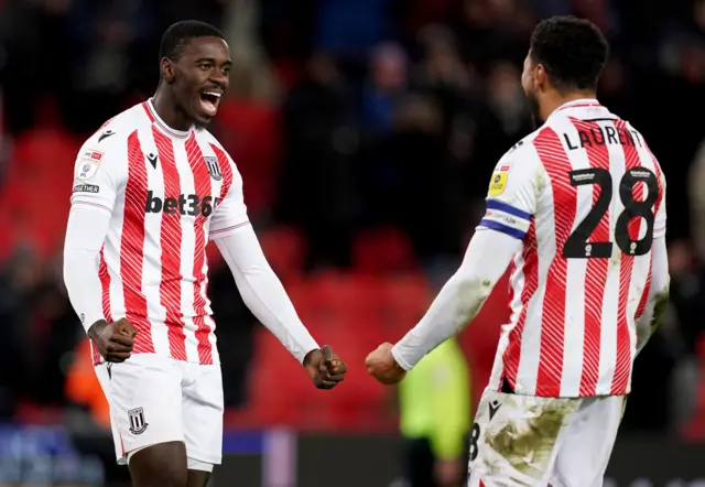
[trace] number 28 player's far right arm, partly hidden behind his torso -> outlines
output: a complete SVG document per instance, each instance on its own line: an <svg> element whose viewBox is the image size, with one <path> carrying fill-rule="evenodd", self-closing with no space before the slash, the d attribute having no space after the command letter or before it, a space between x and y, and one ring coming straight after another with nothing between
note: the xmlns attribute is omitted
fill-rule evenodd
<svg viewBox="0 0 705 487"><path fill-rule="evenodd" d="M637 354L639 354L651 335L657 331L669 306L669 252L665 245L665 178L661 176L661 205L653 224L653 242L651 244L651 285L646 305L639 306L641 314L637 316Z"/></svg>

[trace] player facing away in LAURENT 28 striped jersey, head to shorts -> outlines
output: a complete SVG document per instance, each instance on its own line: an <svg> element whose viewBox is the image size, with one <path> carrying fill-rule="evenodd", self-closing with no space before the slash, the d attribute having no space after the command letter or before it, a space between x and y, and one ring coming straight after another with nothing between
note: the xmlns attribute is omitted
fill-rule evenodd
<svg viewBox="0 0 705 487"><path fill-rule="evenodd" d="M542 126L501 158L460 268L426 315L367 358L394 383L479 312L511 270L511 317L471 430L469 486L597 487L636 356L668 302L665 180L596 99L592 23L535 28L521 83Z"/></svg>

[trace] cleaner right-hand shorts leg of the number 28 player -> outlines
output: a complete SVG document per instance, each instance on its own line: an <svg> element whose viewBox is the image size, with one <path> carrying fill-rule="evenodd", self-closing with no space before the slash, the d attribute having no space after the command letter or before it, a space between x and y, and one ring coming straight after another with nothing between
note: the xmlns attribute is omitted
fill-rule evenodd
<svg viewBox="0 0 705 487"><path fill-rule="evenodd" d="M626 396L586 398L561 433L551 485L600 487L615 446Z"/></svg>

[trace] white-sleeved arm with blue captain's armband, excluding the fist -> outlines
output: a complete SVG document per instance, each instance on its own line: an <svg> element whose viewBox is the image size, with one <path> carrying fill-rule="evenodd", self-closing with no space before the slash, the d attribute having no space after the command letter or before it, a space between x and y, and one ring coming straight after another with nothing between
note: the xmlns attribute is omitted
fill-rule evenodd
<svg viewBox="0 0 705 487"><path fill-rule="evenodd" d="M523 239L535 212L536 162L520 149L497 165L487 212L457 272L443 286L425 316L391 349L410 370L429 351L463 329L477 314Z"/></svg>

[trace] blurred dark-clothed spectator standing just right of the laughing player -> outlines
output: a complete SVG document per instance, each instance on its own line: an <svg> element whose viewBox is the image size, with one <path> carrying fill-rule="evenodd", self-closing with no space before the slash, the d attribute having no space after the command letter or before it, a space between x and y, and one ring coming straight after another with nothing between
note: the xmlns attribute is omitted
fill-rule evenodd
<svg viewBox="0 0 705 487"><path fill-rule="evenodd" d="M307 268L346 267L356 227L359 134L334 57L314 54L283 107L283 171L276 216L304 229ZM247 191L247 190L246 190Z"/></svg>

